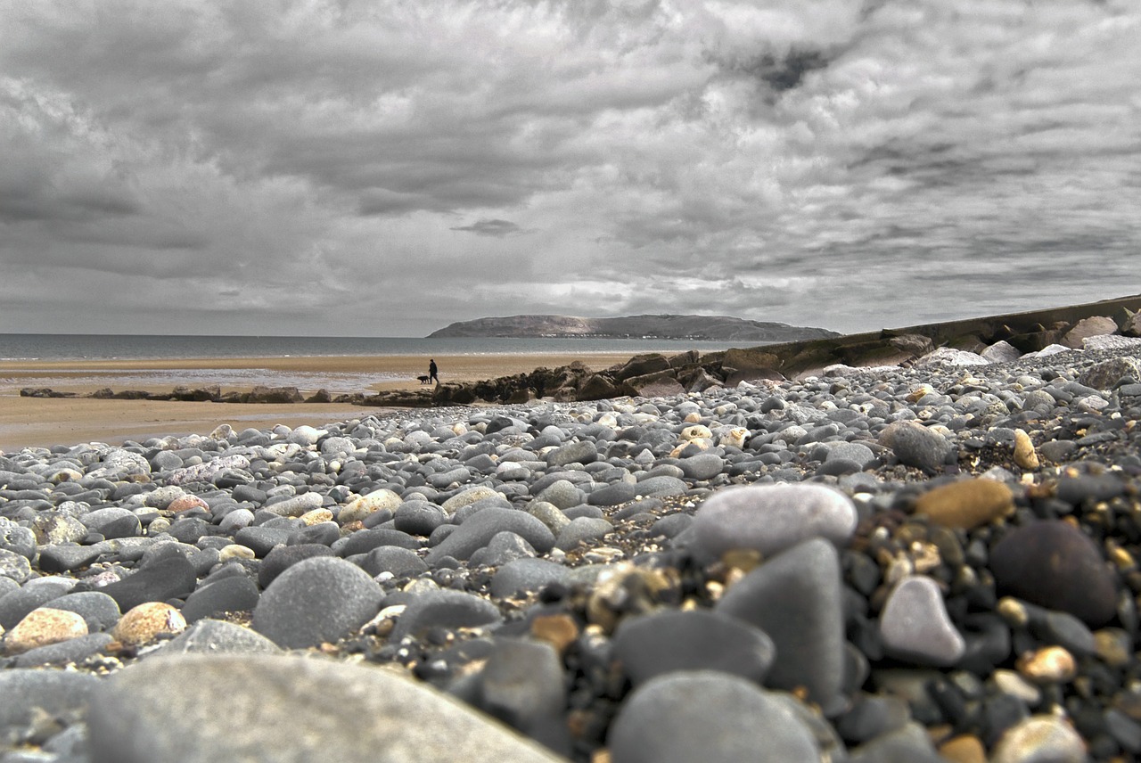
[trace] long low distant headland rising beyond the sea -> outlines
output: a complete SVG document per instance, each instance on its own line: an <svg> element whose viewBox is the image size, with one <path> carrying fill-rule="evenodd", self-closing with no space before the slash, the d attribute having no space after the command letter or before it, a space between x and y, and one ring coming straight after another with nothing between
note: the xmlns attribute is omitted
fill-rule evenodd
<svg viewBox="0 0 1141 763"><path fill-rule="evenodd" d="M512 315L460 320L434 331L429 339L456 336L557 336L592 339L689 339L729 342L795 342L839 336L826 328L790 326L711 315L633 315L578 318L566 315Z"/></svg>

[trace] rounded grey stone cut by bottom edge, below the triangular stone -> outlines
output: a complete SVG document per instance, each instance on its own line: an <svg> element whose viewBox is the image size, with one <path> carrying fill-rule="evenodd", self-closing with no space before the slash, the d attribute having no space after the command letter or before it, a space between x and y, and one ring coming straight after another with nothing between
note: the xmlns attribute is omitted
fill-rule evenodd
<svg viewBox="0 0 1141 763"><path fill-rule="evenodd" d="M788 763L819 747L784 704L745 679L667 673L636 689L610 725L613 763Z"/></svg>

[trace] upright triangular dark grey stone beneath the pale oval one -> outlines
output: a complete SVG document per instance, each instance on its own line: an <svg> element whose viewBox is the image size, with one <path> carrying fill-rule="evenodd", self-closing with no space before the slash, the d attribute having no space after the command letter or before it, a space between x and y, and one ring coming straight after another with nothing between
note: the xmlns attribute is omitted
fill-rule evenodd
<svg viewBox="0 0 1141 763"><path fill-rule="evenodd" d="M792 691L803 687L825 714L844 699L844 606L840 555L812 538L774 557L726 591L714 611L764 631L777 659L764 683Z"/></svg>

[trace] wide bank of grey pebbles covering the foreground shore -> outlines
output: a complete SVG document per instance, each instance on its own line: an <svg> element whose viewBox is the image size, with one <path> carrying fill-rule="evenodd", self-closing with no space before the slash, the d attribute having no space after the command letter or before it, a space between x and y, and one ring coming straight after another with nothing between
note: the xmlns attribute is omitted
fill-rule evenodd
<svg viewBox="0 0 1141 763"><path fill-rule="evenodd" d="M0 453L0 763L1141 756L1139 339L349 414Z"/></svg>

